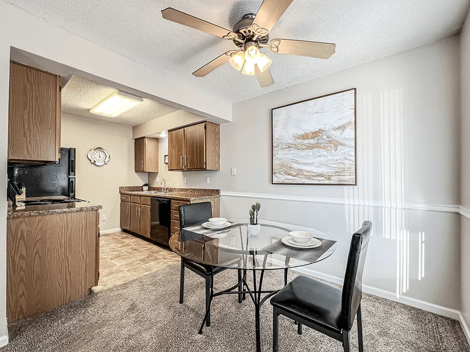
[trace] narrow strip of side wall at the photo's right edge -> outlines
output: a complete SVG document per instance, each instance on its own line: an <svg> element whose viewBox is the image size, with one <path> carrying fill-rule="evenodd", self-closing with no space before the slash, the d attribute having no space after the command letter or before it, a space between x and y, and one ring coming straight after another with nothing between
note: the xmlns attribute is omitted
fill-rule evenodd
<svg viewBox="0 0 470 352"><path fill-rule="evenodd" d="M461 84L461 205L466 208L461 222L462 316L470 326L470 15L460 33Z"/></svg>

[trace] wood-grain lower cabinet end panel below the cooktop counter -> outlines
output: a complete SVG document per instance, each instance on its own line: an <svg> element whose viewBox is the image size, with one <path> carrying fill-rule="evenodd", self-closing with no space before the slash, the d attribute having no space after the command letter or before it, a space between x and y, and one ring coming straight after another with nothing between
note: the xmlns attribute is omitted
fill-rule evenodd
<svg viewBox="0 0 470 352"><path fill-rule="evenodd" d="M7 218L8 323L87 296L98 284L98 236L97 210Z"/></svg>

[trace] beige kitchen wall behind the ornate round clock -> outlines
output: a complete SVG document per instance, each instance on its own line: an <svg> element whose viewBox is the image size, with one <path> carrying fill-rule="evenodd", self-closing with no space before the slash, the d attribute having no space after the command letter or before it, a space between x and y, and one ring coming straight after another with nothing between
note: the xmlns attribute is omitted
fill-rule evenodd
<svg viewBox="0 0 470 352"><path fill-rule="evenodd" d="M87 154L100 146L110 154L103 166L90 163ZM100 204L100 230L119 228L119 186L141 186L147 174L134 172L134 140L132 127L79 117L62 115L62 147L76 148L76 197ZM101 219L101 217L100 217Z"/></svg>

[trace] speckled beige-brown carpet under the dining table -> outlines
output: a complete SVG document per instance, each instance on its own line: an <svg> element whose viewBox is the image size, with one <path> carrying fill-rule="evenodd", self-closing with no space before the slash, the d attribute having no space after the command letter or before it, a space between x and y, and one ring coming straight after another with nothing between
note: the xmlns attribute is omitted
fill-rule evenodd
<svg viewBox="0 0 470 352"><path fill-rule="evenodd" d="M204 281L186 271L185 303L178 304L179 266L171 266L9 326L0 352L226 352L254 351L251 299L214 299L212 325L197 330L204 313ZM290 279L294 277L290 274ZM235 271L215 276L217 288L235 282ZM280 287L282 272L267 272L265 288ZM383 298L364 295L364 351L470 352L458 322ZM272 351L272 310L262 311L263 351ZM353 327L355 329L355 326ZM357 351L356 330L352 351ZM280 351L340 352L341 343L280 319Z"/></svg>

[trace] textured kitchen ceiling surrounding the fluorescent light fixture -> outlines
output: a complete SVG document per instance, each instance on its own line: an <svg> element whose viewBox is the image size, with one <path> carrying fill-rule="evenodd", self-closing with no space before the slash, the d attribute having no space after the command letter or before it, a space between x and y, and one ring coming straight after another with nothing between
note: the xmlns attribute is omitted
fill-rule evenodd
<svg viewBox="0 0 470 352"><path fill-rule="evenodd" d="M62 113L135 126L178 110L145 98L143 104L117 117L101 116L89 111L116 90L74 75L62 89Z"/></svg>

